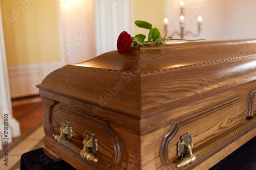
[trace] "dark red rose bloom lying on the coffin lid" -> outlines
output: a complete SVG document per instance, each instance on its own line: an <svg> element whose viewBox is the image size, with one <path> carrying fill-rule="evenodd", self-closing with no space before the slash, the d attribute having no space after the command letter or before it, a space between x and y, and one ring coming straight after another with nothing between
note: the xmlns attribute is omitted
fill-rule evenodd
<svg viewBox="0 0 256 170"><path fill-rule="evenodd" d="M128 34L126 31L121 32L117 39L117 52L119 53L125 53L129 52L131 49L131 44L133 42L133 39L130 34Z"/></svg>

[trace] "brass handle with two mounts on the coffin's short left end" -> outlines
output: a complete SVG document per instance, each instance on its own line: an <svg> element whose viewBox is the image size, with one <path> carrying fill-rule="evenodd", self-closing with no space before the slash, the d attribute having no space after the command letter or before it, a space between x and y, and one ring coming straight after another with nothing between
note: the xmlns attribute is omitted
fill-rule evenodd
<svg viewBox="0 0 256 170"><path fill-rule="evenodd" d="M98 140L95 137L94 133L86 131L83 133L83 149L81 150L76 145L73 145L68 140L72 137L72 127L68 120L62 120L60 134L53 134L54 139L61 145L69 150L73 151L77 155L80 155L81 158L88 161L98 162L98 158L94 154L98 151Z"/></svg>

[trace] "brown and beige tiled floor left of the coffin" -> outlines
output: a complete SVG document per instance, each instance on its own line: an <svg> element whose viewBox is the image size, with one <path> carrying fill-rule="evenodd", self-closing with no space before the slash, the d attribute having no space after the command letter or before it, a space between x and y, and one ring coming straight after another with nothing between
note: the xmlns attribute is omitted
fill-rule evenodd
<svg viewBox="0 0 256 170"><path fill-rule="evenodd" d="M4 165L5 152L0 151L0 169L19 169L20 156L44 144L44 114L40 102L14 106L13 117L19 122L21 136L8 144L8 166Z"/></svg>

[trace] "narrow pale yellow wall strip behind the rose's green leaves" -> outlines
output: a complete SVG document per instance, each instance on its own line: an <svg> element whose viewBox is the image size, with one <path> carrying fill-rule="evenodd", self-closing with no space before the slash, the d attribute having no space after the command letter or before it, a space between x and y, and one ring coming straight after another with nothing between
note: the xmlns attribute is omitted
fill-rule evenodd
<svg viewBox="0 0 256 170"><path fill-rule="evenodd" d="M157 28L161 37L164 36L164 0L134 0L134 21L135 20L144 20L149 23L152 23L153 28ZM134 23L133 23L134 24ZM134 35L144 34L148 36L149 30L139 28L134 24Z"/></svg>

